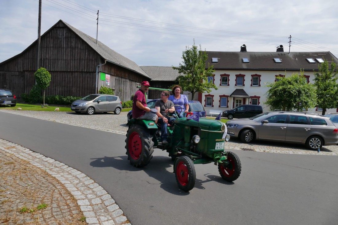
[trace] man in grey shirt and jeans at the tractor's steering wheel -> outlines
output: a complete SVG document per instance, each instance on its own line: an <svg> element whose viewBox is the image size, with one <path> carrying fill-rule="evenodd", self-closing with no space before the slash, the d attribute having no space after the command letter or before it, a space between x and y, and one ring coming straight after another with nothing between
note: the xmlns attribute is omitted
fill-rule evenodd
<svg viewBox="0 0 338 225"><path fill-rule="evenodd" d="M158 124L161 125L161 140L162 144L168 144L167 138L167 126L168 122L175 120L175 118L167 117L167 113L174 112L175 107L172 101L168 100L170 95L169 91L162 91L161 100L155 102L155 109L157 110L156 115L159 117Z"/></svg>

